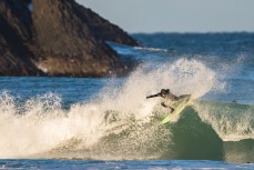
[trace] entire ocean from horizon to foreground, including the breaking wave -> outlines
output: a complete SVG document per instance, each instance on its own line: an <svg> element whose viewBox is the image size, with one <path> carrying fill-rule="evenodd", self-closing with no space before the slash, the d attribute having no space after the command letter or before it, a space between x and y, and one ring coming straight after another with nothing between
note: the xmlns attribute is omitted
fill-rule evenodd
<svg viewBox="0 0 254 170"><path fill-rule="evenodd" d="M132 36L125 77L0 78L0 169L254 169L254 33Z"/></svg>

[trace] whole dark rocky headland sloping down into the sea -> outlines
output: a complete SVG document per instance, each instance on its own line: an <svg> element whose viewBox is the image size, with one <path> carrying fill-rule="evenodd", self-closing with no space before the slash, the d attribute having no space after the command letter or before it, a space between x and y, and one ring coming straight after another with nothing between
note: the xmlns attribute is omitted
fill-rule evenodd
<svg viewBox="0 0 254 170"><path fill-rule="evenodd" d="M74 0L0 0L0 74L103 77L125 66L105 40L138 42ZM41 70L41 71L40 71Z"/></svg>

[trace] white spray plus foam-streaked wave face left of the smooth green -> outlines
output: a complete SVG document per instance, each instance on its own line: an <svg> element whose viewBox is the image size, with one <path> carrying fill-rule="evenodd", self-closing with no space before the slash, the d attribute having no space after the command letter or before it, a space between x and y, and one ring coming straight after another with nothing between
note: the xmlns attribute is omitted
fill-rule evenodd
<svg viewBox="0 0 254 170"><path fill-rule="evenodd" d="M70 109L63 109L61 98L50 91L26 101L2 92L0 158L112 159L113 152L115 159L138 159L140 153L150 159L159 157L163 149L158 141L170 143L171 133L158 122L150 122L161 99L145 97L170 88L177 96L191 93L197 99L216 81L216 73L202 62L179 59L152 70L140 67L123 86L106 84L96 99L73 103ZM108 141L118 134L121 142ZM154 148L156 153L151 151ZM112 154L105 156L109 151Z"/></svg>

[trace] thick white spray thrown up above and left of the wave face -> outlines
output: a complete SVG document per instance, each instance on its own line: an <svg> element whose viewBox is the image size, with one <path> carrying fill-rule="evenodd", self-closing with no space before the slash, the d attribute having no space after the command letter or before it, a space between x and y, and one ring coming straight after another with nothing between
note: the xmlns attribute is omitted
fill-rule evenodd
<svg viewBox="0 0 254 170"><path fill-rule="evenodd" d="M149 121L160 99L146 100L146 96L170 88L175 94L192 93L196 99L209 92L215 81L215 72L202 62L180 59L154 70L141 67L123 87L108 86L99 99L75 103L70 110L62 109L61 99L50 92L29 99L22 106L3 92L0 96L0 158L48 152L72 139L81 139L82 146L92 147L112 127L123 124L130 117ZM118 112L116 124L105 123L109 110Z"/></svg>

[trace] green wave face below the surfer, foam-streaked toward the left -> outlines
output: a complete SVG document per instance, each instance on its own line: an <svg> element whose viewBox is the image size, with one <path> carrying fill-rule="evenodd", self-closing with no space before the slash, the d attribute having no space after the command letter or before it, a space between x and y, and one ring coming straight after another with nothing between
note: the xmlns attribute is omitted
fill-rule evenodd
<svg viewBox="0 0 254 170"><path fill-rule="evenodd" d="M162 112L159 109L145 120L132 116L123 121L119 118L121 113L109 111L103 123L111 128L93 144L88 144L90 139L74 137L33 158L253 162L252 136L240 141L223 141L193 108L186 108L176 122L159 126L164 116Z"/></svg>

